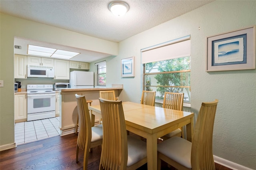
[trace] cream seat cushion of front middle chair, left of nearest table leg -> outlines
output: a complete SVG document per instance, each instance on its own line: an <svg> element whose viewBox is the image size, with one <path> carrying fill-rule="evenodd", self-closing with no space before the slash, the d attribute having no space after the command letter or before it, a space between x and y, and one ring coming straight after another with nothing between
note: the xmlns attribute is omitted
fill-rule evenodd
<svg viewBox="0 0 256 170"><path fill-rule="evenodd" d="M138 140L132 136L127 136L128 161L127 167L147 157L146 142Z"/></svg>

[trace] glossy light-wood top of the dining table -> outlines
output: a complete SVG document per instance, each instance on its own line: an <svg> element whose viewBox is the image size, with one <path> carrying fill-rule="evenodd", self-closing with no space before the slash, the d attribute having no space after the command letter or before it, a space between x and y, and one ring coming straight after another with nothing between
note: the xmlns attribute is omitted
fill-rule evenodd
<svg viewBox="0 0 256 170"><path fill-rule="evenodd" d="M149 133L154 133L194 117L194 113L142 105L140 103L123 102L122 106L126 125L140 129L144 128ZM100 105L90 106L89 109L100 114Z"/></svg>

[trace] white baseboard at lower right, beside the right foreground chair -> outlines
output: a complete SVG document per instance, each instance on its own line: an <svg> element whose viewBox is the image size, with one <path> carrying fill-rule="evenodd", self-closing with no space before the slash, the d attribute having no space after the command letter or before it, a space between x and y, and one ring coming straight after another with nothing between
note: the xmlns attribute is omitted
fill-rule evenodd
<svg viewBox="0 0 256 170"><path fill-rule="evenodd" d="M220 158L220 157L215 156L215 155L213 156L213 158L214 158L214 162L216 162L217 164L220 164L222 166L226 166L227 168L230 168L232 170L252 170L250 168L247 168L245 166L236 164L234 162L231 162L229 160Z"/></svg>

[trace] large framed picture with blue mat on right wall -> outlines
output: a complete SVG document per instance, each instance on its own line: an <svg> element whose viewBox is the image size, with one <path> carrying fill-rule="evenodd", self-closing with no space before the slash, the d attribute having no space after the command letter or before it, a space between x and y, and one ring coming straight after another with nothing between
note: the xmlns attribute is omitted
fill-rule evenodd
<svg viewBox="0 0 256 170"><path fill-rule="evenodd" d="M256 26L207 37L206 71L255 69Z"/></svg>

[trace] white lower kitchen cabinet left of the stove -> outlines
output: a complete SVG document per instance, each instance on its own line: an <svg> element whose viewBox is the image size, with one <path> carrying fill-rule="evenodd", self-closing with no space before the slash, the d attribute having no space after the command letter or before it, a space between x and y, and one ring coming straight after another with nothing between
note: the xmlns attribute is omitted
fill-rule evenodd
<svg viewBox="0 0 256 170"><path fill-rule="evenodd" d="M27 121L27 94L14 95L15 123Z"/></svg>

